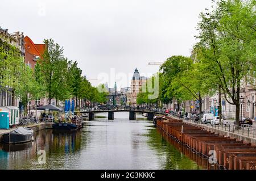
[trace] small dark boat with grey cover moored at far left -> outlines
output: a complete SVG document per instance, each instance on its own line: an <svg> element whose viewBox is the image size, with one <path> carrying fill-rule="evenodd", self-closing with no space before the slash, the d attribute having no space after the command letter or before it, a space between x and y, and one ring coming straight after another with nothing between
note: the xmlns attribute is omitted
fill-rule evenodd
<svg viewBox="0 0 256 181"><path fill-rule="evenodd" d="M34 131L31 128L19 127L10 133L3 134L3 141L7 144L20 144L33 140Z"/></svg>

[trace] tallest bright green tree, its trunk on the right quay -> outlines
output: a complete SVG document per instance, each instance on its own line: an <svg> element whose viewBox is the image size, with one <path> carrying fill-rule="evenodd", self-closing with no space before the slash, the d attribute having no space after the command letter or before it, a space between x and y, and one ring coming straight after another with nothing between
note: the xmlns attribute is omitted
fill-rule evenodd
<svg viewBox="0 0 256 181"><path fill-rule="evenodd" d="M255 76L255 1L217 1L200 18L197 58L218 80L226 101L236 106L238 125L241 83L246 75Z"/></svg>

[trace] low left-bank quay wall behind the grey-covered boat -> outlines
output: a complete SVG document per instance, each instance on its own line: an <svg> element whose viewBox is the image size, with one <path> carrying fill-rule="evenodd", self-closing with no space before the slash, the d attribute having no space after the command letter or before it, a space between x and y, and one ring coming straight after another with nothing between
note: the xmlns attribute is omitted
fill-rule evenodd
<svg viewBox="0 0 256 181"><path fill-rule="evenodd" d="M30 127L34 132L38 132L38 131L43 130L43 129L51 129L52 128L52 123L31 124L31 125L26 125L26 127ZM14 129L16 129L16 128L0 129L0 142L3 141L3 134L9 133L9 132L13 131Z"/></svg>

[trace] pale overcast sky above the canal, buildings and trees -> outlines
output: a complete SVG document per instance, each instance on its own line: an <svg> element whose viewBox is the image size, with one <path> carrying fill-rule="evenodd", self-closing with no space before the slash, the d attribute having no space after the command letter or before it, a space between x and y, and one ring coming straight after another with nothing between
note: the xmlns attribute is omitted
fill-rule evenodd
<svg viewBox="0 0 256 181"><path fill-rule="evenodd" d="M97 85L129 86L135 68L151 75L172 55L189 56L198 16L211 0L1 0L0 26L34 43L52 38ZM98 81L96 81L98 79Z"/></svg>

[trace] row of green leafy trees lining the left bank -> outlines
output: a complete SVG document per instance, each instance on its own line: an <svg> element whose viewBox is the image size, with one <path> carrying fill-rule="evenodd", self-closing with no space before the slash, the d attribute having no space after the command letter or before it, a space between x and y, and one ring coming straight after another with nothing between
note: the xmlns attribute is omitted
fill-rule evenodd
<svg viewBox="0 0 256 181"><path fill-rule="evenodd" d="M76 99L77 106L80 100L87 102L106 102L106 93L99 92L82 76L82 70L77 61L69 61L64 57L63 48L52 39L45 40L46 50L32 70L24 64L20 53L15 47L1 41L0 68L2 90L10 91L13 98L19 98L24 110L31 100L48 98L65 100ZM11 103L14 106L14 101ZM84 101L85 102L85 101Z"/></svg>

